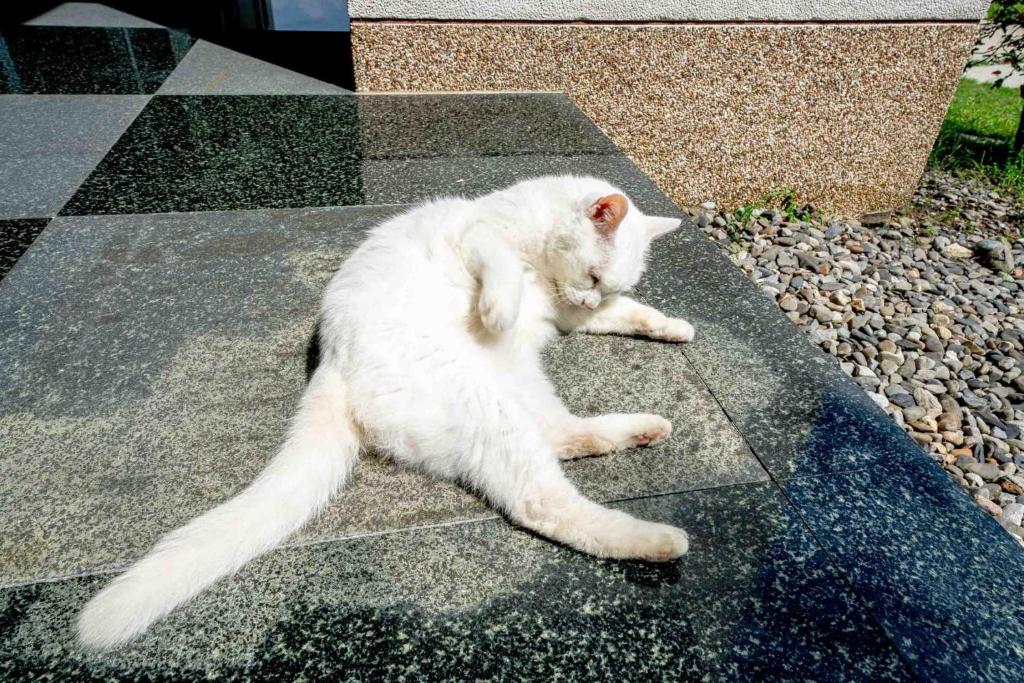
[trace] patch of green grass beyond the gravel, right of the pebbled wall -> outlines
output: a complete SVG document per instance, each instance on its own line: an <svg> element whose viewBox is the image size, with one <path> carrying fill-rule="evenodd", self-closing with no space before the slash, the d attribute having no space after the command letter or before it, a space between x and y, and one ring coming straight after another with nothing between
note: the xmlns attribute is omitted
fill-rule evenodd
<svg viewBox="0 0 1024 683"><path fill-rule="evenodd" d="M1017 88L961 80L929 164L984 177L1024 200L1024 155L1010 154L1022 103Z"/></svg>

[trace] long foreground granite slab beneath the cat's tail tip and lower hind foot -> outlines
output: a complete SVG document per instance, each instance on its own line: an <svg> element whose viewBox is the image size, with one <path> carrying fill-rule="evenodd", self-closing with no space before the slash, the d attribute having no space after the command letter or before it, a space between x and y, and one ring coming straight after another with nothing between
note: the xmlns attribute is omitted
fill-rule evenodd
<svg viewBox="0 0 1024 683"><path fill-rule="evenodd" d="M688 528L654 565L502 520L280 550L108 654L72 641L108 578L0 593L0 676L912 680L771 484L623 504Z"/></svg>

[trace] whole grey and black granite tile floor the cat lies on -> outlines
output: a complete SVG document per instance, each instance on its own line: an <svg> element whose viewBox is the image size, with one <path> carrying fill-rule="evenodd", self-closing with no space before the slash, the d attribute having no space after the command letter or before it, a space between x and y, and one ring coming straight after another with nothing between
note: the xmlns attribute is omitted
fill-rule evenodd
<svg viewBox="0 0 1024 683"><path fill-rule="evenodd" d="M322 91L96 6L49 15L88 26L33 27L59 34L0 66L0 176L26 178L0 195L0 678L1019 678L1024 554L688 222L638 296L693 343L573 335L545 358L580 413L673 419L664 444L566 469L687 528L681 560L574 553L369 454L286 547L137 642L81 650L88 597L271 454L321 290L368 227L540 173L681 214L560 95ZM119 22L170 46L167 73L38 53L89 53ZM60 187L18 166L75 155Z"/></svg>

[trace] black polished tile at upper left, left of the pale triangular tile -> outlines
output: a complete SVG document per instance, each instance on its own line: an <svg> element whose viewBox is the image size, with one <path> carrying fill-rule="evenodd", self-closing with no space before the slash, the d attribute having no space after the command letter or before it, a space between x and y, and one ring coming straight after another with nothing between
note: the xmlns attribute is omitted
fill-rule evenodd
<svg viewBox="0 0 1024 683"><path fill-rule="evenodd" d="M0 93L152 94L191 43L167 29L5 28Z"/></svg>

